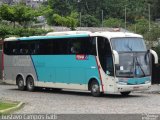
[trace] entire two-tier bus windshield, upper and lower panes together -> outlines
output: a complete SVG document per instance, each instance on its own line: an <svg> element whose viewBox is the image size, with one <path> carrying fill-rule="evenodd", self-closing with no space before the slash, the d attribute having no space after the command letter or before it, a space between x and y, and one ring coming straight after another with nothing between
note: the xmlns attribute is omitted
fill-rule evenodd
<svg viewBox="0 0 160 120"><path fill-rule="evenodd" d="M149 54L142 38L113 38L111 44L119 54L117 77L145 77L150 75Z"/></svg>

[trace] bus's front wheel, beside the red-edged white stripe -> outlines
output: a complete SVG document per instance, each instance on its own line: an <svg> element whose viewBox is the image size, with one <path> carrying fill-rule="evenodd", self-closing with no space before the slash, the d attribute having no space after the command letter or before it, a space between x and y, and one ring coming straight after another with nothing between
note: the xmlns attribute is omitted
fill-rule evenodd
<svg viewBox="0 0 160 120"><path fill-rule="evenodd" d="M94 97L100 97L101 96L100 86L99 86L99 84L96 80L93 80L91 82L90 90L91 90L92 96L94 96Z"/></svg>

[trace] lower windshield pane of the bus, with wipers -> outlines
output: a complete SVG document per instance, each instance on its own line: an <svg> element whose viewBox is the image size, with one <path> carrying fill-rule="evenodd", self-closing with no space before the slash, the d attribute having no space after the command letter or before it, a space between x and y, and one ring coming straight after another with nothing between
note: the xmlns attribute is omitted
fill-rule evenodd
<svg viewBox="0 0 160 120"><path fill-rule="evenodd" d="M149 55L146 52L119 53L117 77L145 77L150 75Z"/></svg>

